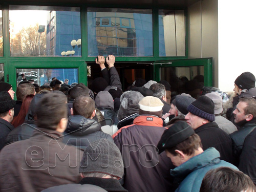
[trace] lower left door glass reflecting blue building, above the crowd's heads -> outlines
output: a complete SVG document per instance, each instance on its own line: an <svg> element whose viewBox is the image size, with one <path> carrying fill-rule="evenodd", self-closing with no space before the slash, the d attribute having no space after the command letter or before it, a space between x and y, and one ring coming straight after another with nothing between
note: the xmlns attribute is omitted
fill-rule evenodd
<svg viewBox="0 0 256 192"><path fill-rule="evenodd" d="M78 82L77 69L16 69L16 73L17 84L22 81L21 74L24 74L27 80L33 79L39 86L42 86L47 82L50 83L53 77L56 77L63 82L65 79L69 79L68 84Z"/></svg>

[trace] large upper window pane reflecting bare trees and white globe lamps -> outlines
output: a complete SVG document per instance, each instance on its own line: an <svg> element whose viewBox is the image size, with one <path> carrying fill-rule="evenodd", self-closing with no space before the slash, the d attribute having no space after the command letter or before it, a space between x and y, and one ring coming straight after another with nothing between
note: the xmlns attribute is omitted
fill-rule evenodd
<svg viewBox="0 0 256 192"><path fill-rule="evenodd" d="M11 56L81 56L80 8L10 5L9 19Z"/></svg>

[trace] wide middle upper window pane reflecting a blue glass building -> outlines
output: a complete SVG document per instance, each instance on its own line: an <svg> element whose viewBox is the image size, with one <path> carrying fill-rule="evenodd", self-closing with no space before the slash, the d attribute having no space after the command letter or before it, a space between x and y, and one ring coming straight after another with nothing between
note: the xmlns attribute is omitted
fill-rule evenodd
<svg viewBox="0 0 256 192"><path fill-rule="evenodd" d="M152 10L88 8L88 55L152 56Z"/></svg>

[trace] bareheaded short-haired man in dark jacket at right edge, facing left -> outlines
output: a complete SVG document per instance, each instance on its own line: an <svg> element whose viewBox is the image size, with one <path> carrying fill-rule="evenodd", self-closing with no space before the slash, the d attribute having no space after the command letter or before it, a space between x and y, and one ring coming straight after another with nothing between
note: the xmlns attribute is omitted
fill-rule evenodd
<svg viewBox="0 0 256 192"><path fill-rule="evenodd" d="M236 158L236 165L238 165L244 140L256 127L256 100L241 98L233 114L234 122L240 126L240 129L229 136L232 139L233 155Z"/></svg>

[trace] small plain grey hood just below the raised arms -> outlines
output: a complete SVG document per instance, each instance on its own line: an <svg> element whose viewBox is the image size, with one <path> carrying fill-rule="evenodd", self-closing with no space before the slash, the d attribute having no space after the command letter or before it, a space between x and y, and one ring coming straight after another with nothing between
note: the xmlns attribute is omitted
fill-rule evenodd
<svg viewBox="0 0 256 192"><path fill-rule="evenodd" d="M114 110L114 99L108 91L100 91L95 98L95 106L98 109L106 108Z"/></svg>

